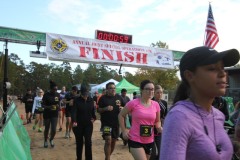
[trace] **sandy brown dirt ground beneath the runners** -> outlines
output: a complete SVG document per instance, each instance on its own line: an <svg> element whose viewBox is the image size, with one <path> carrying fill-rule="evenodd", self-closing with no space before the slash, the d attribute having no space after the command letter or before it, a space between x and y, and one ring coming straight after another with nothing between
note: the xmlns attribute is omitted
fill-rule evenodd
<svg viewBox="0 0 240 160"><path fill-rule="evenodd" d="M24 104L16 101L17 110L19 115L25 116ZM75 160L76 159L76 144L73 133L71 133L72 138L65 139L65 129L59 132L54 139L55 147L48 148L43 147L43 132L39 133L33 130L33 121L31 124L24 125L28 131L31 138L31 154L33 160ZM57 127L59 128L59 127ZM104 160L104 141L102 140L100 130L100 121L96 120L94 122L93 136L92 136L92 150L93 150L93 160ZM83 151L83 160L84 158ZM116 143L115 150L111 155L111 160L132 160L132 155L129 153L128 147L123 145L121 139Z"/></svg>

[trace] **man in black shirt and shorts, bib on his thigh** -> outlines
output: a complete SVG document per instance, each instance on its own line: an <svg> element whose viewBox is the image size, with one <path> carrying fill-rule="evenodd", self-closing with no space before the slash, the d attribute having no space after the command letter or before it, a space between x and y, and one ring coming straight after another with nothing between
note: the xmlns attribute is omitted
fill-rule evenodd
<svg viewBox="0 0 240 160"><path fill-rule="evenodd" d="M101 113L101 122L103 123L105 159L110 160L110 155L119 137L118 114L124 106L124 102L122 97L116 94L116 86L113 82L109 82L106 89L107 94L99 99L98 112Z"/></svg>

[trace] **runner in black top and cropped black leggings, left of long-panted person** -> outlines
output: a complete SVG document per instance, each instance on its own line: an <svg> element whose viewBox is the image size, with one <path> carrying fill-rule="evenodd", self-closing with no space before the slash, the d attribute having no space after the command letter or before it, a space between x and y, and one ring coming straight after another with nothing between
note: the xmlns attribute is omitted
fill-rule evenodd
<svg viewBox="0 0 240 160"><path fill-rule="evenodd" d="M51 125L50 145L54 147L53 139L56 134L57 122L58 122L58 111L60 105L60 94L57 93L57 85L50 81L50 91L45 93L42 99L42 107L44 108L43 119L44 119L44 147L48 147L48 134Z"/></svg>

